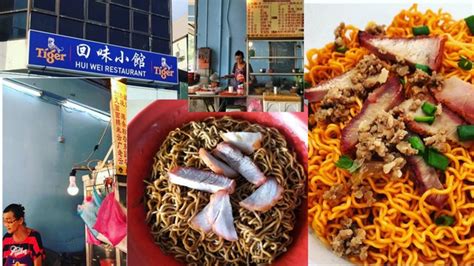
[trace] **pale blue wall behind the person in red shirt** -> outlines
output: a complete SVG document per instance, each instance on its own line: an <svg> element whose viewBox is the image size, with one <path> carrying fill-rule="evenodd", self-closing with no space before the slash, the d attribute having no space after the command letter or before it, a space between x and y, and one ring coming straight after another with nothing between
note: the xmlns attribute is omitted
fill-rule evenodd
<svg viewBox="0 0 474 266"><path fill-rule="evenodd" d="M50 88L57 85L49 82ZM69 172L92 151L107 123L86 113L61 111L58 105L10 88L2 90L2 209L11 203L23 204L28 226L41 233L45 247L57 252L83 250L84 222L76 210L83 199L80 176L84 172L77 174L80 192L74 197L66 192ZM83 91L82 103L97 101L95 96ZM110 98L103 101L105 106ZM61 128L64 143L57 141ZM92 158L102 159L110 145L109 130Z"/></svg>

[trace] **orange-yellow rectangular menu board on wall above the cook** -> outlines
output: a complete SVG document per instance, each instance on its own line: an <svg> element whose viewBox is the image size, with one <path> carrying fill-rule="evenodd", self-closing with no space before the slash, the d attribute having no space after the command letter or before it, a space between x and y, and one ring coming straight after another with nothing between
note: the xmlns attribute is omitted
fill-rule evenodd
<svg viewBox="0 0 474 266"><path fill-rule="evenodd" d="M303 0L247 1L249 38L303 38Z"/></svg>

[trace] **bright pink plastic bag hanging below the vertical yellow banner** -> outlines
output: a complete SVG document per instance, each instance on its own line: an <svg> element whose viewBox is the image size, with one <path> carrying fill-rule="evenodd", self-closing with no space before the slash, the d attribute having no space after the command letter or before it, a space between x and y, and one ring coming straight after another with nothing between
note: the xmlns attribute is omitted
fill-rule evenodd
<svg viewBox="0 0 474 266"><path fill-rule="evenodd" d="M109 193L102 201L94 229L116 246L127 235L127 216L115 200L114 194Z"/></svg>

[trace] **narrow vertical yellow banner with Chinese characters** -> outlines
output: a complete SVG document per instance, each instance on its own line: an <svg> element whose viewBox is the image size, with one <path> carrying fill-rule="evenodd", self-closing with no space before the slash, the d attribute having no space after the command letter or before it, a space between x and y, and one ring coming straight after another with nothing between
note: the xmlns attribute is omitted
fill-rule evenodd
<svg viewBox="0 0 474 266"><path fill-rule="evenodd" d="M112 78L112 137L115 173L127 175L127 85Z"/></svg>

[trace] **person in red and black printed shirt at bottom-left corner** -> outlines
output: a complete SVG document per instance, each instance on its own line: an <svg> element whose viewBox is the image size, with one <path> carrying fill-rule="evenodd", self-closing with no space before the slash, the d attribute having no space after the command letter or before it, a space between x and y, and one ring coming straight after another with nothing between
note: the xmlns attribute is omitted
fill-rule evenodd
<svg viewBox="0 0 474 266"><path fill-rule="evenodd" d="M44 249L39 232L26 227L25 208L10 204L3 210L3 265L41 266Z"/></svg>

